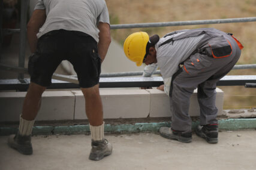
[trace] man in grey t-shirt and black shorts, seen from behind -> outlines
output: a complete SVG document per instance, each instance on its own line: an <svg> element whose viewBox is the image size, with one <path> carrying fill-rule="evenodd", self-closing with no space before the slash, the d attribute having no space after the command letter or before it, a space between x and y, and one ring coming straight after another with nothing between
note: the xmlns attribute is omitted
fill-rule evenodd
<svg viewBox="0 0 256 170"><path fill-rule="evenodd" d="M100 160L112 153L104 138L103 106L99 92L101 62L109 48L110 21L104 0L40 0L28 23L31 52L31 84L20 115L19 132L8 145L32 154L31 132L40 109L41 95L52 84L52 75L62 60L73 64L85 96L92 149L89 159Z"/></svg>

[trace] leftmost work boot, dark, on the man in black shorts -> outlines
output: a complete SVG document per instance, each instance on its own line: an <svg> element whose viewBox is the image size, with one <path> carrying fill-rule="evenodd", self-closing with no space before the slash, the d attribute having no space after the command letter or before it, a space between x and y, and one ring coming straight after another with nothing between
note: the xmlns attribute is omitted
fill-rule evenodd
<svg viewBox="0 0 256 170"><path fill-rule="evenodd" d="M31 135L22 136L19 133L17 133L17 135L10 135L10 137L8 138L8 146L16 149L19 153L22 154L33 153Z"/></svg>

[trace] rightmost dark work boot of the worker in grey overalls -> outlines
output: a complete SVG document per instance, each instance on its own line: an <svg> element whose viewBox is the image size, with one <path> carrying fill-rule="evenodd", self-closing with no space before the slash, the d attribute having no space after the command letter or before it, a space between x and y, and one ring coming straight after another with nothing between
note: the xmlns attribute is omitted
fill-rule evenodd
<svg viewBox="0 0 256 170"><path fill-rule="evenodd" d="M204 138L207 143L218 143L218 124L198 125L195 134Z"/></svg>

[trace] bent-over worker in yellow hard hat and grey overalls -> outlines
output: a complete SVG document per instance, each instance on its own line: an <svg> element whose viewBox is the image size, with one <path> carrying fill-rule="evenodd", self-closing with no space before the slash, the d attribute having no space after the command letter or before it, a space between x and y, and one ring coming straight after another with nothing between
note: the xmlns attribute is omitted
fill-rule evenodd
<svg viewBox="0 0 256 170"><path fill-rule="evenodd" d="M145 63L143 76L159 66L164 85L158 87L170 97L171 128L161 127L162 137L189 143L192 140L189 98L197 88L200 125L195 129L208 143L218 143L216 82L239 60L243 46L230 33L213 28L178 30L159 39L136 32L124 42L125 55L137 66Z"/></svg>

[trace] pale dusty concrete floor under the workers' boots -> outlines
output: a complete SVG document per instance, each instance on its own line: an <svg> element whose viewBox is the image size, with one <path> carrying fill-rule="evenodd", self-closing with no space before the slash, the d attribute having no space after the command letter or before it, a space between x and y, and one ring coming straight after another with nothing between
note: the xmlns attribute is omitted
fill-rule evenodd
<svg viewBox="0 0 256 170"><path fill-rule="evenodd" d="M208 144L193 134L192 143L167 140L158 134L106 135L113 154L88 159L89 135L32 137L34 154L24 156L0 137L0 169L255 169L256 131L219 132L219 143Z"/></svg>

